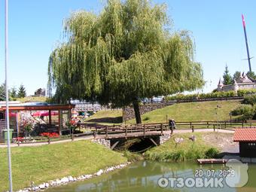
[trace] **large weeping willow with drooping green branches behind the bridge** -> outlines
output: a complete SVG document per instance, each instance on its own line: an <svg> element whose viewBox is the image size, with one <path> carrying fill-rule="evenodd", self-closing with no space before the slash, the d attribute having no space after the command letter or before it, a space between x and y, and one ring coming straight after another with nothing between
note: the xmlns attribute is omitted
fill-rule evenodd
<svg viewBox="0 0 256 192"><path fill-rule="evenodd" d="M49 90L56 102L98 101L113 107L203 86L187 31L172 32L165 5L147 0L108 0L100 14L73 13L66 41L49 59Z"/></svg>

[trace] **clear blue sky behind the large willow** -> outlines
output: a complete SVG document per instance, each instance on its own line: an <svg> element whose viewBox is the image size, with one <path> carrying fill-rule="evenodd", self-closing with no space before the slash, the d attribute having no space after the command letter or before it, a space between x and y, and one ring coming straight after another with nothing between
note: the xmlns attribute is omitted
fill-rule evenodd
<svg viewBox="0 0 256 192"><path fill-rule="evenodd" d="M50 52L61 39L62 20L72 11L98 13L102 0L9 0L9 87L24 84L32 94L47 84ZM245 15L251 68L256 70L256 1L254 0L153 0L166 3L175 30L192 32L196 60L202 63L207 81L204 92L213 90L227 66L233 75L248 71L241 14ZM0 0L0 82L5 80L5 1Z"/></svg>

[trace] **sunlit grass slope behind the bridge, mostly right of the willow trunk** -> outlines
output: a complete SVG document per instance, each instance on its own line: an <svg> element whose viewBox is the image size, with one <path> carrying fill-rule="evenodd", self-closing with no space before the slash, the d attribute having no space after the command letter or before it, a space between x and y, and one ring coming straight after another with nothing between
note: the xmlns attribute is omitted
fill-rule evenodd
<svg viewBox="0 0 256 192"><path fill-rule="evenodd" d="M217 120L217 110L215 109L217 105L221 105L221 108L218 108L218 120L230 120L230 111L241 104L237 100L178 103L142 114L142 123L164 123L166 122L166 115L176 122ZM127 123L135 122L135 119L127 121Z"/></svg>

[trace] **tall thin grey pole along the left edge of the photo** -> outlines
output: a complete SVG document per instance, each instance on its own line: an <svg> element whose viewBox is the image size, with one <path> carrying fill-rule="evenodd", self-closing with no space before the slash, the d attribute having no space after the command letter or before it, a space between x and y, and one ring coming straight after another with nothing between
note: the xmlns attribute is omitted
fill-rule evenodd
<svg viewBox="0 0 256 192"><path fill-rule="evenodd" d="M5 100L6 100L6 126L8 143L8 166L9 166L9 191L13 192L11 175L11 146L10 146L10 122L9 122L9 93L8 93L8 0L5 0Z"/></svg>

